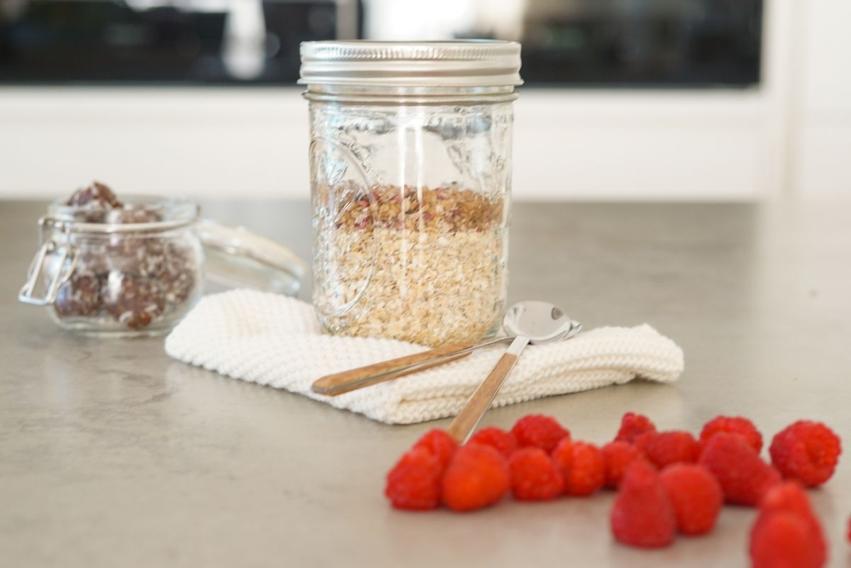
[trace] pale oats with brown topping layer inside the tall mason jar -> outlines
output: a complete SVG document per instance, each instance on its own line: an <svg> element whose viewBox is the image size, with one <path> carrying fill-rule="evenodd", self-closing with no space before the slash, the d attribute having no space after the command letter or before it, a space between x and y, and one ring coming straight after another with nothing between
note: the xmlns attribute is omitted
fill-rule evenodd
<svg viewBox="0 0 851 568"><path fill-rule="evenodd" d="M503 200L455 187L321 187L314 303L332 332L432 346L483 338L504 309Z"/></svg>

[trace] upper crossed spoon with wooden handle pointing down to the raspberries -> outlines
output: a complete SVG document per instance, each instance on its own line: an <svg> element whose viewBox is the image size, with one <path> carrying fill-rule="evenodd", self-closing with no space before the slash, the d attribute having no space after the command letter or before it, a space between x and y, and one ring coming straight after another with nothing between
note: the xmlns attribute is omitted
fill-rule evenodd
<svg viewBox="0 0 851 568"><path fill-rule="evenodd" d="M511 306L511 309L505 313L503 326L505 332L514 336L514 340L447 429L448 434L460 444L463 444L476 429L485 411L494 401L494 396L500 390L505 377L514 368L517 358L529 343L547 344L569 338L581 327L578 322L571 321L557 306L537 301L521 302Z"/></svg>

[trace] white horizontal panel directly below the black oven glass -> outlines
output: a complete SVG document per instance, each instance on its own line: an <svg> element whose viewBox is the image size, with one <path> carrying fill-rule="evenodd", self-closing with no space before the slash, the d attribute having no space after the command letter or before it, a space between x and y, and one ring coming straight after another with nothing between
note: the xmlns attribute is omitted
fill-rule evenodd
<svg viewBox="0 0 851 568"><path fill-rule="evenodd" d="M306 101L262 89L5 92L0 189L307 196ZM750 199L768 117L756 92L562 93L517 102L518 198ZM14 111L12 111L14 109Z"/></svg>

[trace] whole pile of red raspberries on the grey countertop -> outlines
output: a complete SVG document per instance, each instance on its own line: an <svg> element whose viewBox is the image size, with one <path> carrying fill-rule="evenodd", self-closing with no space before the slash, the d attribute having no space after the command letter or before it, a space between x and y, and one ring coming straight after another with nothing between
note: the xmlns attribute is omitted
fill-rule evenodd
<svg viewBox="0 0 851 568"><path fill-rule="evenodd" d="M648 417L627 412L605 446L573 440L549 416L521 418L511 431L488 427L459 446L432 429L387 474L395 508L454 511L493 505L511 491L520 501L617 491L610 517L618 541L665 547L677 532L704 535L723 503L757 507L751 529L754 568L820 568L827 546L806 487L836 469L842 446L825 424L792 423L774 436L762 460L762 434L743 417L719 416L695 438L657 431ZM849 527L851 539L851 527Z"/></svg>

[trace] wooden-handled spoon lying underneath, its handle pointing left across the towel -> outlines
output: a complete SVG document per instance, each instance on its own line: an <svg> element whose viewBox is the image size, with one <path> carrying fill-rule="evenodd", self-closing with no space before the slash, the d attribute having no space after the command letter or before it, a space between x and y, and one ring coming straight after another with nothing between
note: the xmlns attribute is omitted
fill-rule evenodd
<svg viewBox="0 0 851 568"><path fill-rule="evenodd" d="M518 321L521 317L528 317L528 314L530 313L529 310L539 310L539 308L534 307L539 304L548 306L551 313L555 313L552 310L557 310L560 317L568 322L569 328L560 338L570 338L580 331L582 327L581 324L578 321L571 321L570 318L568 318L567 315L564 315L561 310L558 310L556 306L546 304L545 302L528 300L512 305L511 308L505 312L505 318L503 319L502 325L505 327L507 335L503 337L490 339L481 344L464 343L444 345L443 347L414 353L414 355L406 355L404 357L392 359L391 361L382 361L380 363L374 363L373 365L351 369L351 371L337 372L317 379L317 381L313 383L311 389L313 392L321 395L341 395L349 392L350 390L363 389L363 387L368 387L372 384L383 383L393 378L408 375L412 372L423 371L432 366L443 365L443 363L455 361L456 359L470 355L477 349L505 343L506 341L517 338L517 335L520 334L517 332L520 327L517 326L516 321ZM539 343L535 338L531 338L530 341L533 344Z"/></svg>

